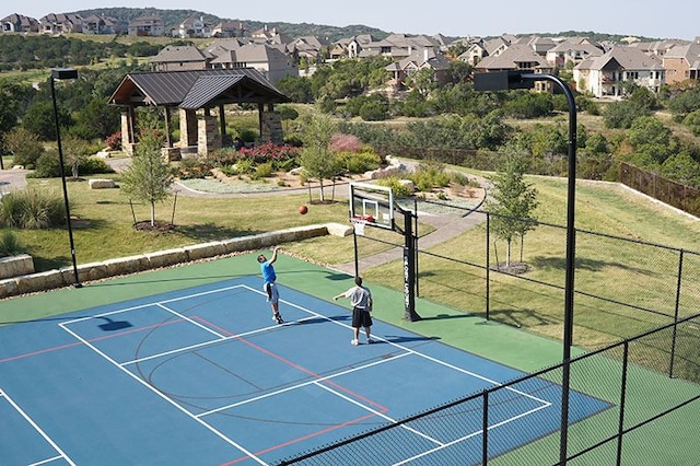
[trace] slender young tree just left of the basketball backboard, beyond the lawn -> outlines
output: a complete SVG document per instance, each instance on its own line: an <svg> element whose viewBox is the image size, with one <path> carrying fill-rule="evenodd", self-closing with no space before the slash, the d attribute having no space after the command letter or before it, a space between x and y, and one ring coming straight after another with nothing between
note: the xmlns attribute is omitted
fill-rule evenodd
<svg viewBox="0 0 700 466"><path fill-rule="evenodd" d="M300 158L301 166L311 177L318 178L320 200L324 201L324 179L334 177L339 171L336 153L330 149L330 140L336 125L323 114L312 115L303 131L304 147Z"/></svg>

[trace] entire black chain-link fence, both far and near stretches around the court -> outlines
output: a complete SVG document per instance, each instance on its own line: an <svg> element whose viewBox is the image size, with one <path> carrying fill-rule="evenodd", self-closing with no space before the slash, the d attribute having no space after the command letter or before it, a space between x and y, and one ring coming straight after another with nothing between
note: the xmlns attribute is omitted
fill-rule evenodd
<svg viewBox="0 0 700 466"><path fill-rule="evenodd" d="M565 228L537 223L509 251L491 235L492 214L468 213L485 219L430 251L419 240L421 299L561 338ZM390 244L386 234L368 240ZM654 427L700 399L700 254L581 230L575 245L573 343L590 352L571 360L567 383L559 364L283 464L361 464L368 452L382 464L646 464L640 443L674 463L678 452ZM588 396L568 396L568 413L590 397L608 408L574 423L561 410L563 430L513 446L513 435L536 426L499 429L516 411L510 401L551 387L563 395L562 386Z"/></svg>

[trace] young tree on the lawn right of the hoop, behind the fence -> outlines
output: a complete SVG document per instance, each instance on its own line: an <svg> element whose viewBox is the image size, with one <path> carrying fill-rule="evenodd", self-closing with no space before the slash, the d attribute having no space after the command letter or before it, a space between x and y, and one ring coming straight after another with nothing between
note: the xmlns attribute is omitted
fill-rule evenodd
<svg viewBox="0 0 700 466"><path fill-rule="evenodd" d="M517 235L522 244L525 234L535 228L533 211L537 208L537 189L523 178L523 159L513 144L504 149L504 164L493 177L493 200L487 202L491 217L491 230L506 243L505 268L511 267L511 245Z"/></svg>

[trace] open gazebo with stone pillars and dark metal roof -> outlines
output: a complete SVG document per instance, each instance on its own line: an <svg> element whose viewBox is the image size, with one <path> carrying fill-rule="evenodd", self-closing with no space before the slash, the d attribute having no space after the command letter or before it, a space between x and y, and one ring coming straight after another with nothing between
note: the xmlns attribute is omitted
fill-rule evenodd
<svg viewBox="0 0 700 466"><path fill-rule="evenodd" d="M108 103L126 107L121 114L121 145L133 154L138 143L136 107L163 107L168 160L183 154L208 155L222 147L226 104L257 104L261 142L282 143L282 123L275 104L289 102L252 68L151 71L127 74ZM172 137L172 112L179 113L179 141ZM218 108L217 114L212 108Z"/></svg>

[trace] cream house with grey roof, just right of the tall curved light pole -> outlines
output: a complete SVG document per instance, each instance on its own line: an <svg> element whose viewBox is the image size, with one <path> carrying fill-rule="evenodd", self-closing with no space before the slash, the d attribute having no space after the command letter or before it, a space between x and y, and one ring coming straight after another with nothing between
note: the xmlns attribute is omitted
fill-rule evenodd
<svg viewBox="0 0 700 466"><path fill-rule="evenodd" d="M596 97L621 96L625 82L657 92L665 82L665 74L660 57L629 46L612 47L599 57L583 60L573 69L576 90Z"/></svg>

